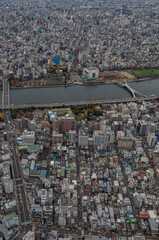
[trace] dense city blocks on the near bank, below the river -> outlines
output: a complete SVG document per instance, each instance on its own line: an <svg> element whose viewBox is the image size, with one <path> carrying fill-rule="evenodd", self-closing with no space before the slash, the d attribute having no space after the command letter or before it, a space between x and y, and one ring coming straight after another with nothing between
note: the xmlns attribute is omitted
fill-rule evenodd
<svg viewBox="0 0 159 240"><path fill-rule="evenodd" d="M13 140L7 141L0 115L0 232L6 239L18 234L23 217L31 228L16 239L158 239L157 101L16 109L11 116ZM16 166L10 152L18 153Z"/></svg>

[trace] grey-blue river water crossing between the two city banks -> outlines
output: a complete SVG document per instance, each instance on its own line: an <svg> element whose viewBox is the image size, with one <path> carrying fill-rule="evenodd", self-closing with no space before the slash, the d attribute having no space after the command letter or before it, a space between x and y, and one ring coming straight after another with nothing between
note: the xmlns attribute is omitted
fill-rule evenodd
<svg viewBox="0 0 159 240"><path fill-rule="evenodd" d="M159 95L159 79L132 82L129 85L145 95ZM2 92L0 92L1 100ZM26 88L12 89L10 91L12 104L46 103L46 102L69 102L90 99L126 98L131 94L116 84L50 88Z"/></svg>

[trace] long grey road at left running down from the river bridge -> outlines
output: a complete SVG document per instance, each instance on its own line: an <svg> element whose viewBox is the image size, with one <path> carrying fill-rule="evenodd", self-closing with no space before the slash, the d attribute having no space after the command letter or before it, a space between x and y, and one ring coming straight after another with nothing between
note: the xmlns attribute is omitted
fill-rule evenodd
<svg viewBox="0 0 159 240"><path fill-rule="evenodd" d="M15 196L17 202L17 209L20 221L19 232L13 239L21 240L22 237L29 231L32 230L30 222L29 210L26 201L26 193L24 188L22 170L17 152L16 135L13 131L12 119L10 116L10 101L9 101L9 83L8 80L3 81L3 115L5 118L5 127L7 132L7 140L9 143L9 150L11 155L11 168L14 180Z"/></svg>

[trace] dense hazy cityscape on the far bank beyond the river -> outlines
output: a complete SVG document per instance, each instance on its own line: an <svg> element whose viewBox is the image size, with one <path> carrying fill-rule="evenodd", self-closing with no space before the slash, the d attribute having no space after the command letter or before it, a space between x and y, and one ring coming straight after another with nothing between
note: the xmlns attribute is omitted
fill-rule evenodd
<svg viewBox="0 0 159 240"><path fill-rule="evenodd" d="M16 86L132 80L109 71L158 67L158 20L157 1L1 0L0 73Z"/></svg>

